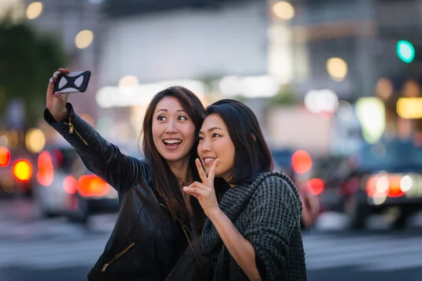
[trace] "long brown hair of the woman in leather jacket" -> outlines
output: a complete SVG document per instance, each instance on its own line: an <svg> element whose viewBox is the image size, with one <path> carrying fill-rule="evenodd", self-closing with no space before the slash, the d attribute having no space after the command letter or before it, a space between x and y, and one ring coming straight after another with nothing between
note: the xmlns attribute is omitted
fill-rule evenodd
<svg viewBox="0 0 422 281"><path fill-rule="evenodd" d="M153 182L155 192L161 197L167 209L170 210L172 218L186 222L189 217L189 211L186 207L184 197L181 194L179 182L177 181L176 176L174 176L166 160L158 152L153 141L153 114L155 107L162 98L169 96L177 98L182 107L184 107L184 110L186 110L186 113L195 125L196 135L200 126L203 124L205 108L199 98L188 89L182 86L171 86L163 91L160 91L153 97L151 103L146 109L145 117L143 119L143 133L141 134L141 136L143 136L143 155L151 166L151 180ZM194 181L200 181L200 177L195 166L195 159L198 158L197 147L198 138L196 138L195 143L193 143L189 160L189 166ZM198 200L196 200L193 196L191 196L191 205L196 221L198 220L198 223L202 224L205 214L203 209L200 207Z"/></svg>

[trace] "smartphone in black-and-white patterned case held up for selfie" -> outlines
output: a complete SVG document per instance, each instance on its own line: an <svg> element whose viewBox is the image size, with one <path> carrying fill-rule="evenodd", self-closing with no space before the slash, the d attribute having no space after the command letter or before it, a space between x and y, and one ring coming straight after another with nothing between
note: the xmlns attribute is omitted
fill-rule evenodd
<svg viewBox="0 0 422 281"><path fill-rule="evenodd" d="M87 91L91 72L89 70L58 74L53 92L83 93Z"/></svg>

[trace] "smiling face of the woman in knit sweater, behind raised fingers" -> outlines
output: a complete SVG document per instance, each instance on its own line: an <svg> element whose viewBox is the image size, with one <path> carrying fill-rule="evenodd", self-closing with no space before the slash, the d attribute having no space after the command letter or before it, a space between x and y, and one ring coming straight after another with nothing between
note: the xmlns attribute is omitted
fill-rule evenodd
<svg viewBox="0 0 422 281"><path fill-rule="evenodd" d="M234 143L222 117L208 115L199 132L198 155L208 174L215 159L219 158L215 176L229 181L233 176Z"/></svg>

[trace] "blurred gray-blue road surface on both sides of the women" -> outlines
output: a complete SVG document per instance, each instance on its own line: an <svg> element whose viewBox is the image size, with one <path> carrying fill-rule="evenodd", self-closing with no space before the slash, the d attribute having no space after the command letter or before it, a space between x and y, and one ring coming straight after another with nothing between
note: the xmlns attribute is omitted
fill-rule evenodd
<svg viewBox="0 0 422 281"><path fill-rule="evenodd" d="M5 216L16 207L18 216ZM38 219L36 207L27 200L1 202L0 209L1 281L87 280L115 219L95 216L87 227L63 218ZM383 230L378 222L378 230L357 232L339 229L344 220L338 214L323 215L316 229L304 234L309 281L420 280L420 222L403 231Z"/></svg>

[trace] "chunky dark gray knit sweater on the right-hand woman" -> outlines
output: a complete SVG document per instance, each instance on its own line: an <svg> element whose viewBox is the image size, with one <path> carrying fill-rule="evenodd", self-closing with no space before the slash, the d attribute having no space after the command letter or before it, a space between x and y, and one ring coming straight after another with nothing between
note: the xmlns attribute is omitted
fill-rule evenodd
<svg viewBox="0 0 422 281"><path fill-rule="evenodd" d="M265 280L307 280L300 231L302 204L288 176L262 173L251 185L227 190L219 207L254 247ZM248 280L209 218L203 227L201 251L215 262L214 280Z"/></svg>

